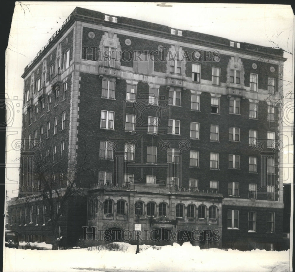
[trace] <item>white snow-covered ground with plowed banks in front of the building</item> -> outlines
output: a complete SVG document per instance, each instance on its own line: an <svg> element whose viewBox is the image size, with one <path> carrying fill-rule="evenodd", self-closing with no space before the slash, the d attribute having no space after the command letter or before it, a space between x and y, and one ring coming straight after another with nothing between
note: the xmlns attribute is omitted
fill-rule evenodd
<svg viewBox="0 0 295 272"><path fill-rule="evenodd" d="M8 271L291 271L288 251L224 251L182 246L160 250L127 243L125 252L87 249L30 250L5 248L4 270ZM39 244L38 244L39 246Z"/></svg>

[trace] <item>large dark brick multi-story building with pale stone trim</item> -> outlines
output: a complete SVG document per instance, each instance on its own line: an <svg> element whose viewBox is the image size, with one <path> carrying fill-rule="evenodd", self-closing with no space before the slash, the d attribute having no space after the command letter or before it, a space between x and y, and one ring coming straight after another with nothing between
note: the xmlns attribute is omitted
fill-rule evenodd
<svg viewBox="0 0 295 272"><path fill-rule="evenodd" d="M70 198L60 219L71 241L82 226L126 238L138 223L153 237L209 230L219 237L210 246L279 249L285 60L279 49L76 8L22 76L10 228L50 241L42 200L24 201L44 188L25 174L42 153L60 174L69 161L92 170L80 175L87 200Z"/></svg>

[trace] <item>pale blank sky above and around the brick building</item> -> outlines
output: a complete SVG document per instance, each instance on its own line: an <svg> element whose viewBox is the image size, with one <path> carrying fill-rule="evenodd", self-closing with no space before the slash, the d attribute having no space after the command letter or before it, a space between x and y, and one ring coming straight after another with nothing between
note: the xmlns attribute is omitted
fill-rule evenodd
<svg viewBox="0 0 295 272"><path fill-rule="evenodd" d="M294 52L294 15L291 6L265 4L170 3L172 7L148 2L16 2L6 49L6 190L17 196L19 141L21 139L24 67L36 56L76 6L224 37L261 46L278 46ZM169 5L169 3L166 3ZM294 93L294 54L284 53L284 92ZM286 102L286 124L294 118L293 96ZM290 129L289 129L290 131ZM284 136L284 163L293 163L291 133ZM290 166L291 167L291 166ZM292 168L285 170L285 181L293 180Z"/></svg>

